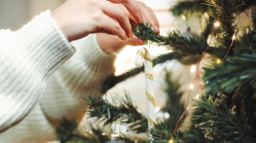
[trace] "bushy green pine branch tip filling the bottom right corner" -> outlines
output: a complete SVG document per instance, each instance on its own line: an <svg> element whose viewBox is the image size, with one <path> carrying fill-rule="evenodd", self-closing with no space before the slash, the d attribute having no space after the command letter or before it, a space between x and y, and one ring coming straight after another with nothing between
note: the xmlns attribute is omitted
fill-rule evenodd
<svg viewBox="0 0 256 143"><path fill-rule="evenodd" d="M218 143L256 141L255 130L245 124L235 108L217 102L211 95L208 99L201 96L195 102L193 120L200 121L195 126L203 130L207 139Z"/></svg>

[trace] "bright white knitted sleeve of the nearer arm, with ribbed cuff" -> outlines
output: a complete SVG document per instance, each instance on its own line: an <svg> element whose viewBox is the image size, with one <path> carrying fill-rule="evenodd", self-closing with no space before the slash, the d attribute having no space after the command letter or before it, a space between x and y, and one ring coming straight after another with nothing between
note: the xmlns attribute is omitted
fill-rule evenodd
<svg viewBox="0 0 256 143"><path fill-rule="evenodd" d="M49 12L16 32L0 30L0 132L34 108L48 76L74 52Z"/></svg>

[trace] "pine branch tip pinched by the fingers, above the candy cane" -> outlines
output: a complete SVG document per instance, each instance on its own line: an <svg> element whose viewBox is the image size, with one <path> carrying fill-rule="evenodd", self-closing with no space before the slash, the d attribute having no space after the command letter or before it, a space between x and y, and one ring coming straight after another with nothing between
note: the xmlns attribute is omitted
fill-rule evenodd
<svg viewBox="0 0 256 143"><path fill-rule="evenodd" d="M197 35L184 37L176 29L167 31L167 36L157 35L155 30L150 28L150 24L144 22L138 24L137 28L133 28L132 31L141 40L151 41L156 45L166 45L166 48L173 50L171 53L178 54L175 58L182 58L191 54L202 54L206 48L204 47L205 43L202 43L202 39Z"/></svg>

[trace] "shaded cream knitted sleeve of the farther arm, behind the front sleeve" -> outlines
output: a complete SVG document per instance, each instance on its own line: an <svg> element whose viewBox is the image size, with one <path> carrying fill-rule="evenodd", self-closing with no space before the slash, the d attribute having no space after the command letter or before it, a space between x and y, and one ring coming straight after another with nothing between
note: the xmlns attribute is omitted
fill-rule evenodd
<svg viewBox="0 0 256 143"><path fill-rule="evenodd" d="M115 74L116 56L106 54L97 43L96 34L73 41L76 53L47 82L40 105L48 119L83 115L83 98L100 95L99 89Z"/></svg>

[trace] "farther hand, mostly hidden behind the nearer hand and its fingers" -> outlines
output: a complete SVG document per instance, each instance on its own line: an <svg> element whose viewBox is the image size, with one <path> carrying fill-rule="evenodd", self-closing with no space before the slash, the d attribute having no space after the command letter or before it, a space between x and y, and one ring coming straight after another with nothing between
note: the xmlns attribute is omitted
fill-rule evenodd
<svg viewBox="0 0 256 143"><path fill-rule="evenodd" d="M150 7L146 6L143 2L136 1L136 3L141 9L144 21L149 22L152 25L151 28L155 29L157 34L159 34L159 22L157 21L153 10ZM125 9L123 5L120 4L119 6ZM126 11L126 13L128 13L128 11ZM133 17L131 17L130 22L132 25L135 24L135 20L133 19ZM138 39L134 35L132 39L127 39L124 41L115 35L97 33L97 41L101 49L109 54L119 53L126 45L145 45L145 41Z"/></svg>

